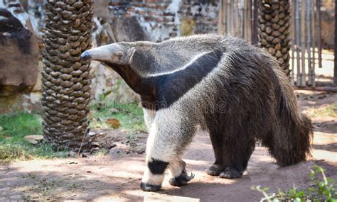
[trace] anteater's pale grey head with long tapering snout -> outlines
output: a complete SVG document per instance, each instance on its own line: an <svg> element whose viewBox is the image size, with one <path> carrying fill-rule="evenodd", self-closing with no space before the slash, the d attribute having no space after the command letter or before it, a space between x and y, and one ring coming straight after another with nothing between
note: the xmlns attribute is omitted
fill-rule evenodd
<svg viewBox="0 0 337 202"><path fill-rule="evenodd" d="M129 43L112 43L86 50L82 53L82 60L97 60L111 67L129 64L135 48Z"/></svg>

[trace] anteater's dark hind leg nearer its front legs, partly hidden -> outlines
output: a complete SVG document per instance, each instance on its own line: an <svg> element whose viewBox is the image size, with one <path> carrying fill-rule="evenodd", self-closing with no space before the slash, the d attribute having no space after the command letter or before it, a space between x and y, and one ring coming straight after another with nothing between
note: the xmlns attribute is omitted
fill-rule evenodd
<svg viewBox="0 0 337 202"><path fill-rule="evenodd" d="M210 132L210 140L214 150L215 162L206 170L206 173L211 176L218 176L225 169L223 167L223 135Z"/></svg>

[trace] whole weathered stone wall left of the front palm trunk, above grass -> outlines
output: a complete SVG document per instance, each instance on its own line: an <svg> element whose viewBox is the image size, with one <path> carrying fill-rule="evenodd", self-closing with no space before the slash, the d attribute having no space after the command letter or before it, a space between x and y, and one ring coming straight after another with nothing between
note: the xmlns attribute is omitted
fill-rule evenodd
<svg viewBox="0 0 337 202"><path fill-rule="evenodd" d="M34 26L35 16L18 1L0 1L0 113L40 107L42 66Z"/></svg>

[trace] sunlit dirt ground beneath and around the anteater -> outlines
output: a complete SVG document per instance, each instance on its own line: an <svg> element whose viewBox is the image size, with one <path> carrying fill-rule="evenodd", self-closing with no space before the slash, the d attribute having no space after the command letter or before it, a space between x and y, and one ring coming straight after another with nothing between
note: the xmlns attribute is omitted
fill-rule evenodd
<svg viewBox="0 0 337 202"><path fill-rule="evenodd" d="M337 94L297 92L306 113L337 101ZM121 140L108 155L100 157L32 160L2 165L0 201L143 201L144 198L148 201L151 198L173 198L173 201L193 201L193 198L201 201L260 201L262 194L252 191L251 186L269 186L273 191L289 189L293 185L308 188L308 176L313 164L324 167L327 176L337 179L337 118L316 116L312 120L315 130L312 157L294 166L278 167L264 147L256 147L241 179L208 176L205 169L213 163L213 150L208 135L198 133L184 157L186 169L196 174L195 179L187 186L176 188L169 185L167 174L162 191L146 193L139 189L145 168L146 135L139 133L132 140ZM114 141L117 139L114 138ZM132 141L134 149L130 151L127 145L132 145Z"/></svg>

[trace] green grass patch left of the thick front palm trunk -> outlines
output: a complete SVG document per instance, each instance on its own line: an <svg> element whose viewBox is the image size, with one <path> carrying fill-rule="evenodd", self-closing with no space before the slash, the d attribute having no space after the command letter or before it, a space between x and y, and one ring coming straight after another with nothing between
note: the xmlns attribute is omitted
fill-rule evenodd
<svg viewBox="0 0 337 202"><path fill-rule="evenodd" d="M24 140L26 135L41 135L41 118L31 113L0 115L0 162L14 160L46 159L65 157L66 151L55 152L52 145L39 142L37 145Z"/></svg>

